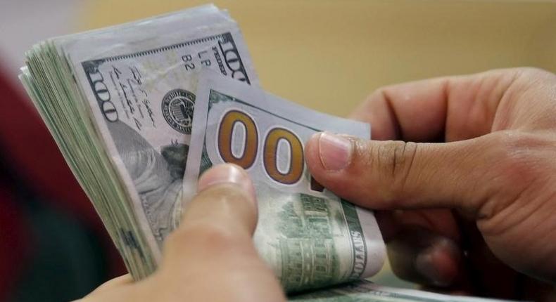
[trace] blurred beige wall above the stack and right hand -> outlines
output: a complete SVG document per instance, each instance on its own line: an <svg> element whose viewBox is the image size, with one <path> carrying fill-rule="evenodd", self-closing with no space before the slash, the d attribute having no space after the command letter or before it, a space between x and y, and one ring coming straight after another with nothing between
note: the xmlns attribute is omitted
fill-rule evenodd
<svg viewBox="0 0 556 302"><path fill-rule="evenodd" d="M91 0L82 29L205 1ZM556 2L215 1L239 22L262 85L345 115L374 88L533 65L555 71Z"/></svg>

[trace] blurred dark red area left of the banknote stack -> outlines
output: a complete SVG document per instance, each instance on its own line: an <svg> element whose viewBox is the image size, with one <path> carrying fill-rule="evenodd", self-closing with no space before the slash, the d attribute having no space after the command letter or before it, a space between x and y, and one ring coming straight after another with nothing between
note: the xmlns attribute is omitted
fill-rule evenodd
<svg viewBox="0 0 556 302"><path fill-rule="evenodd" d="M11 171L18 173L27 186L44 197L44 200L51 202L51 206L72 212L84 224L97 230L97 234L101 234L106 243L108 261L112 263L112 275L121 275L125 272L125 267L87 195L77 183L30 100L15 88L14 85L20 83L17 79L8 79L2 70L0 65L1 155L8 159L7 164ZM0 212L2 211L4 202L0 203ZM2 216L0 220L3 221ZM12 219L11 223L18 222ZM0 225L0 232L4 230L6 228ZM0 257L4 258L4 255Z"/></svg>

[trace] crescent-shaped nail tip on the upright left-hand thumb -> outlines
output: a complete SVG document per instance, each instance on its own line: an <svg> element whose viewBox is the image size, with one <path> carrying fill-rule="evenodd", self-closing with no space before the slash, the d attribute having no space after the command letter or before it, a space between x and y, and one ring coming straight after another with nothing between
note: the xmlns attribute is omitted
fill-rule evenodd
<svg viewBox="0 0 556 302"><path fill-rule="evenodd" d="M225 183L238 185L239 188L255 199L255 188L253 188L251 178L249 178L244 169L234 164L220 164L203 173L201 178L199 178L197 190L201 192L214 185Z"/></svg>

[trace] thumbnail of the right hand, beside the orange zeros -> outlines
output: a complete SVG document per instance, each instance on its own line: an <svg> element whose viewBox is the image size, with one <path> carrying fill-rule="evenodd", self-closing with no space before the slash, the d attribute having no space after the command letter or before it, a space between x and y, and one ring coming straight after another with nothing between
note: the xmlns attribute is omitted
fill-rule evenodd
<svg viewBox="0 0 556 302"><path fill-rule="evenodd" d="M351 141L328 132L322 132L318 136L320 162L324 169L339 171L346 168L351 159Z"/></svg>

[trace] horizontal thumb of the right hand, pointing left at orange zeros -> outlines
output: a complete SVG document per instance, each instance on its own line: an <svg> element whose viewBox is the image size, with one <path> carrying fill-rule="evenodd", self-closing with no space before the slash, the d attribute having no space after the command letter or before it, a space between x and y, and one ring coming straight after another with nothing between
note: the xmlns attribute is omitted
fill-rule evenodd
<svg viewBox="0 0 556 302"><path fill-rule="evenodd" d="M305 145L305 158L317 182L361 206L474 212L491 193L484 185L496 160L495 152L486 152L491 145L486 136L405 143L316 133Z"/></svg>

